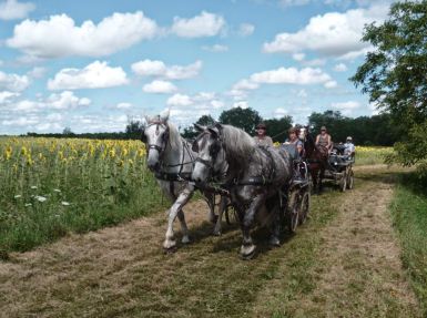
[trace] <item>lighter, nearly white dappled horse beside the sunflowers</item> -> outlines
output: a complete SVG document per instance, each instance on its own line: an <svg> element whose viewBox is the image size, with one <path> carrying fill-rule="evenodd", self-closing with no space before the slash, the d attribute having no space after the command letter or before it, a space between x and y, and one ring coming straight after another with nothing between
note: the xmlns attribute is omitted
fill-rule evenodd
<svg viewBox="0 0 427 318"><path fill-rule="evenodd" d="M173 233L173 222L176 216L181 223L182 243L190 242L182 208L195 191L190 178L197 154L191 150L189 142L181 137L176 127L169 122L169 112L152 119L145 117L145 121L141 140L146 145L146 164L154 173L163 193L173 202L169 209L167 230L163 243L163 247L170 249L176 245ZM204 193L204 196L210 207L210 219L212 223L216 222L215 234L221 234L221 217L214 213L214 194Z"/></svg>

